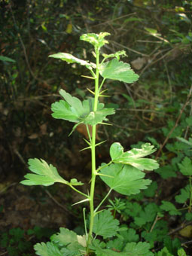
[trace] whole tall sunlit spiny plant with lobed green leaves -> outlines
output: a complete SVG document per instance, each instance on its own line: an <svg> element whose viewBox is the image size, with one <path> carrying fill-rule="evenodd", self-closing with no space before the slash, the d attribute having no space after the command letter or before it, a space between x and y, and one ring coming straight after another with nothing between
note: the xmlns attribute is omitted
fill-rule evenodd
<svg viewBox="0 0 192 256"><path fill-rule="evenodd" d="M154 146L150 143L145 143L142 148L133 148L130 151L123 151L123 147L118 142L114 142L110 147L111 161L109 163L102 163L96 168L96 146L103 142L96 144L96 125L108 124L106 123L107 116L114 114L114 108L105 108L103 103L99 102L99 97L102 97L105 90L102 86L106 79L123 81L125 83L133 83L138 80L139 76L130 69L130 64L120 61L120 56L126 56L125 52L117 51L112 54L102 54L102 61L100 62L100 48L104 44L108 44L105 36L109 35L107 32L97 34L81 35L81 40L93 44L93 56L96 62L88 62L78 59L69 53L56 53L50 57L62 59L69 63L78 63L89 69L91 76L84 76L90 78L95 82L93 98L86 99L83 102L80 99L66 93L65 90L60 90L62 100L51 105L53 111L52 116L57 119L69 120L75 123L72 132L75 128L84 123L87 127L88 140L87 148L91 151L92 170L90 191L84 194L78 190L76 186L81 186L83 183L76 178L71 181L66 181L62 178L56 170L56 167L49 165L44 160L29 159L29 169L34 173L25 175L25 180L21 181L25 185L44 185L49 186L55 182L66 184L75 190L77 193L84 196L84 200L78 203L88 202L90 205L90 218L86 220L84 210L84 226L85 235L78 236L75 232L66 228L60 228L60 232L50 237L51 242L45 244L42 242L35 245L36 254L41 256L62 256L62 255L119 255L133 254L135 256L152 256L153 253L149 251L150 245L147 242L125 242L119 238L105 243L105 239L116 236L120 230L119 221L114 219L109 210L100 210L100 207L108 198L111 190L129 196L131 194L138 194L151 184L151 180L145 179L145 172L152 171L158 168L156 160L144 158L149 154L154 153ZM112 58L112 59L111 59ZM106 59L111 59L106 61ZM102 81L99 84L99 76ZM92 134L90 134L89 126L92 126ZM110 187L108 194L102 199L98 206L94 206L94 191L96 184L96 177L99 176L102 181ZM88 225L88 224L89 225ZM88 227L87 227L88 226ZM97 236L102 236L103 240L97 239ZM114 249L115 248L115 249ZM117 252L118 251L118 252Z"/></svg>

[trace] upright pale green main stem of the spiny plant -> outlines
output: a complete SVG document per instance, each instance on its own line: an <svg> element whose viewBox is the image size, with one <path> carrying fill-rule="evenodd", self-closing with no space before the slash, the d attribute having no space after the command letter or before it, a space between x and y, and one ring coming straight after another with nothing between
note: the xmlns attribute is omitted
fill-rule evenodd
<svg viewBox="0 0 192 256"><path fill-rule="evenodd" d="M97 110L99 98L99 49L96 47L96 79L95 79L95 99L93 111ZM91 139L91 162L92 162L92 175L90 184L90 230L87 239L87 251L89 254L89 246L92 240L93 233L93 222L94 222L94 191L96 183L96 125L93 125L92 129L92 139Z"/></svg>

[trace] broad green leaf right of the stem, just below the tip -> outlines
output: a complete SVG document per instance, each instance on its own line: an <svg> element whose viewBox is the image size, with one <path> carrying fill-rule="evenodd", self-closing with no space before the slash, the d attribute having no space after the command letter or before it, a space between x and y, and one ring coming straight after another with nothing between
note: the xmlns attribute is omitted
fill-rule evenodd
<svg viewBox="0 0 192 256"><path fill-rule="evenodd" d="M118 59L102 63L99 73L103 78L125 83L133 83L139 79L139 75L130 69L130 64L118 61Z"/></svg>

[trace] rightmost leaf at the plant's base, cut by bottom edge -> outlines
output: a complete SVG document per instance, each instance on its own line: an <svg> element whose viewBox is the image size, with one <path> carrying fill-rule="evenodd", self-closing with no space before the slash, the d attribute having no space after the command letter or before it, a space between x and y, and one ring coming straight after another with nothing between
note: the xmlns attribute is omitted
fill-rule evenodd
<svg viewBox="0 0 192 256"><path fill-rule="evenodd" d="M126 251L127 255L154 256L150 251L150 244L148 242L128 242L123 251Z"/></svg>

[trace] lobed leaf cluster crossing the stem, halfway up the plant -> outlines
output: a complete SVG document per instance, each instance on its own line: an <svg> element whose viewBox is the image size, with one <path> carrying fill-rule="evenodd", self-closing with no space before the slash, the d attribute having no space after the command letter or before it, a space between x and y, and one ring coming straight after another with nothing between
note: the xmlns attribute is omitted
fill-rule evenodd
<svg viewBox="0 0 192 256"><path fill-rule="evenodd" d="M56 119L69 120L75 123L84 123L95 125L102 123L109 114L114 114L114 108L104 108L104 104L99 103L97 111L93 111L94 99L86 99L81 102L80 99L66 93L65 90L59 90L61 96L66 100L60 100L51 105L52 116ZM73 130L78 126L75 125Z"/></svg>

